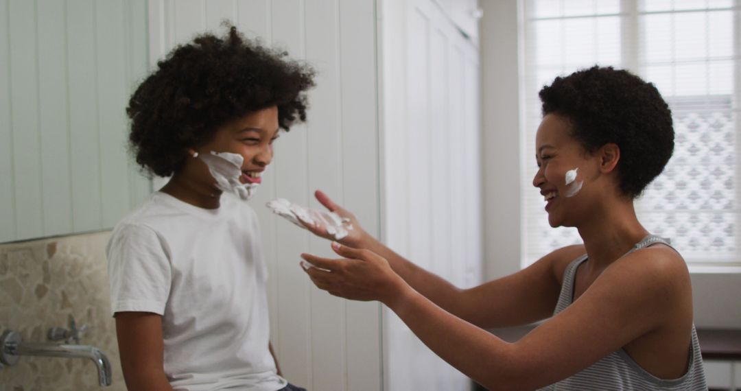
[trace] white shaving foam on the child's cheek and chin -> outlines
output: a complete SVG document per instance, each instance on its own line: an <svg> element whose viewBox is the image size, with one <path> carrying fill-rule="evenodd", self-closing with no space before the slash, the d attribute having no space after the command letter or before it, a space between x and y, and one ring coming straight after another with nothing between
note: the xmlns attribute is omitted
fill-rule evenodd
<svg viewBox="0 0 741 391"><path fill-rule="evenodd" d="M245 162L242 155L211 151L211 153L199 155L199 158L206 164L211 176L216 179L216 187L219 187L222 191L235 193L245 201L255 195L259 184L243 184L239 181L242 176L242 163Z"/></svg>

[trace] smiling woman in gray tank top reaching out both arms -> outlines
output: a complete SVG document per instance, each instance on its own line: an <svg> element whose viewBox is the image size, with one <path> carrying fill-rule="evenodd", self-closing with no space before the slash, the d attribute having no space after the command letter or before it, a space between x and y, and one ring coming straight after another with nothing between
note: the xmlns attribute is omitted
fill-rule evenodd
<svg viewBox="0 0 741 391"><path fill-rule="evenodd" d="M685 261L634 210L674 149L667 104L652 84L611 67L556 78L540 97L533 184L551 226L576 227L584 244L460 290L358 228L332 244L345 259L303 254L316 266L306 272L333 295L382 301L491 390L707 390ZM512 344L485 330L545 318Z"/></svg>

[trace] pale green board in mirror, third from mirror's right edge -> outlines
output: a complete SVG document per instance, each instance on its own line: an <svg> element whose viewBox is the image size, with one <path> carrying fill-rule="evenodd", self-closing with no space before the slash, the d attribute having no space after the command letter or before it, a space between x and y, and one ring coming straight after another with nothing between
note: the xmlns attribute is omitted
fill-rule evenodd
<svg viewBox="0 0 741 391"><path fill-rule="evenodd" d="M95 2L67 1L73 230L101 227Z"/></svg>

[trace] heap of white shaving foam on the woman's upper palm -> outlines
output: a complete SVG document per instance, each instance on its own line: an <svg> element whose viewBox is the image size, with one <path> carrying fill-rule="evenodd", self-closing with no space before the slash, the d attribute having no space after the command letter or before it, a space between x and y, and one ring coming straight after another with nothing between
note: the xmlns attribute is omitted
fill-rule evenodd
<svg viewBox="0 0 741 391"><path fill-rule="evenodd" d="M282 216L286 220L296 224L299 227L306 228L301 221L309 225L324 225L327 233L332 235L335 240L340 240L348 235L348 230L353 229L349 218L342 218L337 213L327 212L325 210L313 210L302 207L298 204L292 204L285 198L278 198L266 204L276 215Z"/></svg>

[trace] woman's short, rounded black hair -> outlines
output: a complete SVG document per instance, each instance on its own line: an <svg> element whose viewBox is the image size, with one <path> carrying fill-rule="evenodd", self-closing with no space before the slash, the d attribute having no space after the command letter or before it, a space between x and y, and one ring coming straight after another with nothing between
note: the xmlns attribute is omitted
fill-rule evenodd
<svg viewBox="0 0 741 391"><path fill-rule="evenodd" d="M637 198L671 158L671 110L654 84L628 71L598 66L579 70L557 77L539 95L543 116L555 113L568 118L571 136L587 153L617 144L623 195Z"/></svg>

